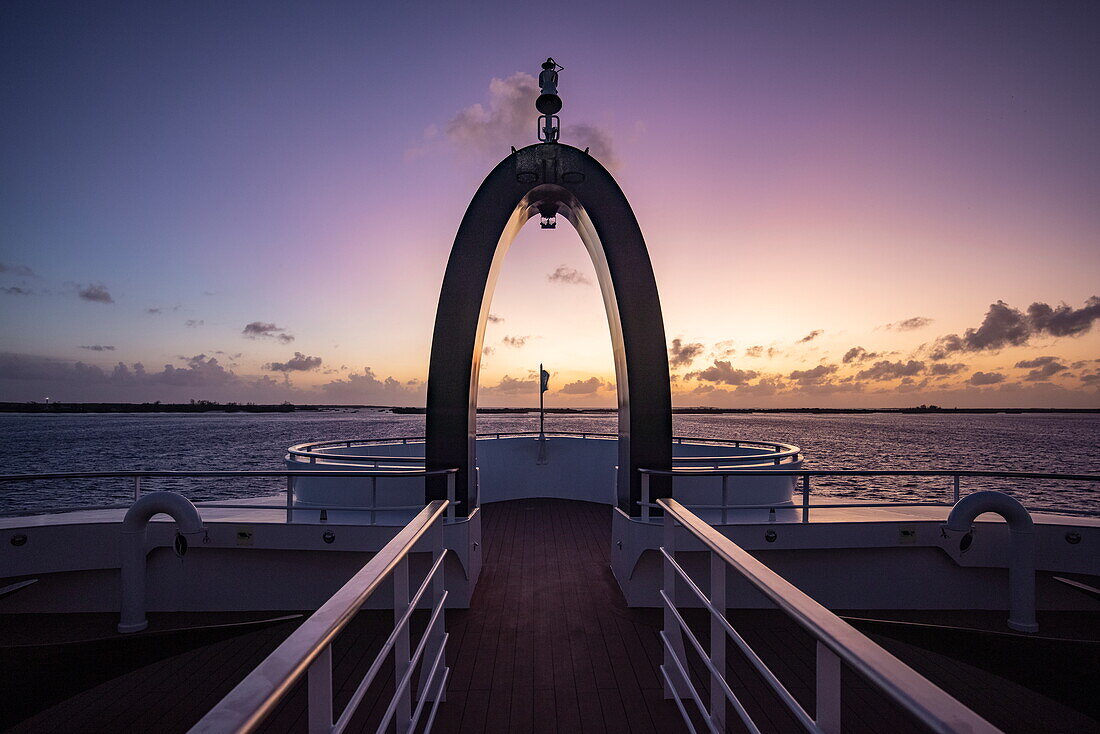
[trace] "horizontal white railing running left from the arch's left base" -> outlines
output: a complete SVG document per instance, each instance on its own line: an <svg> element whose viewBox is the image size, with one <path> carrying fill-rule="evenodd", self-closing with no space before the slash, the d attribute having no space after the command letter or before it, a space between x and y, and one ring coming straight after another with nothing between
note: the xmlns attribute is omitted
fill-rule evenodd
<svg viewBox="0 0 1100 734"><path fill-rule="evenodd" d="M458 469L435 469L435 470L398 470L398 471L363 471L363 470L343 470L343 471L85 471L85 472L53 472L53 473L42 473L42 474L2 474L0 475L0 484L7 482L36 482L46 480L87 480L87 479L129 479L133 482L133 502L142 496L142 480L146 479L228 479L228 478L264 478L264 476L284 476L286 478L286 504L285 505L264 505L264 504L234 504L232 501L226 502L223 500L211 500L208 502L196 502L194 503L196 507L206 507L212 510L268 510L276 512L286 513L286 522L290 523L294 518L295 512L320 512L320 511L343 511L343 512L360 512L367 513L370 516L371 524L374 523L375 516L380 512L398 512L398 511L410 511L420 510L424 507L424 503L416 503L409 505L376 505L374 504L374 497L376 496L376 484L378 479L424 479L426 476L447 476L447 522L455 522L454 508L457 505L462 504L461 501L455 501L454 499L454 475L458 473ZM295 505L294 499L294 480L302 476L307 479L317 478L343 478L343 479L370 479L371 482L371 504L370 505ZM87 510L128 510L133 502L117 503L117 504L88 504L88 505L67 505L63 507L48 507L45 510L12 510L0 512L0 517L13 517L20 515L33 515L42 512L50 513L69 513L69 512L82 512Z"/></svg>

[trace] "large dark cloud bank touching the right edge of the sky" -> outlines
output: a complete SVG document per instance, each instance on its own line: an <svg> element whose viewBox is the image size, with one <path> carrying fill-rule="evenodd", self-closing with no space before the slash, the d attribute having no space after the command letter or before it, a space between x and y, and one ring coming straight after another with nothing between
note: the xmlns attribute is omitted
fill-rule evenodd
<svg viewBox="0 0 1100 734"><path fill-rule="evenodd" d="M1091 296L1081 308L1066 304L1052 307L1033 303L1024 314L1003 300L990 304L986 318L977 328L967 329L963 336L952 333L941 337L933 344L932 359L946 359L954 352L1022 347L1032 337L1078 337L1088 332L1100 319L1100 297Z"/></svg>

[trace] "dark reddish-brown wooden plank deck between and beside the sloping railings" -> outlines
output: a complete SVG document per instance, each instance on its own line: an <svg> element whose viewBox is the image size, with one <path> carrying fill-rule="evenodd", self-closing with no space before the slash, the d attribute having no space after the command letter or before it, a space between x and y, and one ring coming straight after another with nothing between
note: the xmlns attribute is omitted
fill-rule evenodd
<svg viewBox="0 0 1100 734"><path fill-rule="evenodd" d="M663 699L660 686L661 612L628 609L610 572L612 510L583 502L519 500L486 505L483 513L485 562L472 605L447 612L451 678L436 731L683 731L675 705ZM688 617L705 644L705 617L695 612ZM777 612L737 611L730 620L813 711L813 640ZM53 705L12 731L186 732L294 624L145 665ZM338 711L391 628L392 614L363 612L337 639ZM415 625L414 639L418 635ZM1005 731L1097 727L1092 720L997 676L903 643L884 644ZM761 727L801 731L733 645L728 657L730 687ZM693 675L705 690L705 671L697 660ZM350 730L374 731L392 690L391 666L380 673ZM846 732L920 731L847 671L843 701ZM305 731L305 686L298 684L262 730ZM732 710L727 719L729 731L741 731Z"/></svg>

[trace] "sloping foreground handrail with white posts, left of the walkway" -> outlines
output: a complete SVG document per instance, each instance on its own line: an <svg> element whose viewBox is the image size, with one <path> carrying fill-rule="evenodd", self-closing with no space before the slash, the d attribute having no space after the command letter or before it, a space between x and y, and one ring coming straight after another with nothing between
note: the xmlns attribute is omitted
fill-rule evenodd
<svg viewBox="0 0 1100 734"><path fill-rule="evenodd" d="M378 731L386 731L391 723L396 724L398 733L413 731L420 724L426 711L427 716L420 731L430 731L450 673L446 661L448 633L443 629L443 602L447 600L447 591L443 589L443 558L447 549L443 548L441 522L447 506L446 501L438 500L425 507L340 591L290 633L282 645L195 724L191 733L254 731L302 676L306 676L308 687L309 731L342 732L391 653L394 659L394 680L397 682ZM432 548L431 570L410 596L408 555L426 536ZM394 587L394 631L352 693L348 705L333 720L332 642L389 577L393 577ZM410 653L409 621L420 601L429 595L429 590L432 600L431 616L416 649ZM418 666L419 683L414 701L413 678Z"/></svg>

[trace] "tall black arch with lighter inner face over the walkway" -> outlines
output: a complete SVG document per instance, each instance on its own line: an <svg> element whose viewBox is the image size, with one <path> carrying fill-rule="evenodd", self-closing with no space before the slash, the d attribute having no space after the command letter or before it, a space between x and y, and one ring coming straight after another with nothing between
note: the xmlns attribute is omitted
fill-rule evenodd
<svg viewBox="0 0 1100 734"><path fill-rule="evenodd" d="M504 256L531 217L564 216L595 265L615 352L618 385L618 506L638 514L639 468L672 462L672 399L664 321L638 221L623 190L595 158L570 145L531 145L502 161L474 194L447 263L428 370L428 469L458 467L459 514L475 476L475 419L482 340ZM663 481L662 481L663 480ZM653 476L653 497L668 496ZM447 496L443 478L429 500Z"/></svg>

